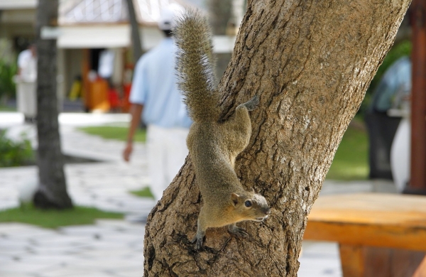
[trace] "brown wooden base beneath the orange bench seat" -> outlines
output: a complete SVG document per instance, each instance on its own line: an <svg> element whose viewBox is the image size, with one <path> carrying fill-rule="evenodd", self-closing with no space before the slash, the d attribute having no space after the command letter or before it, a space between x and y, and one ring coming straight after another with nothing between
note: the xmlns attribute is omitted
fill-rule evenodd
<svg viewBox="0 0 426 277"><path fill-rule="evenodd" d="M425 252L339 245L344 277L426 277Z"/></svg>

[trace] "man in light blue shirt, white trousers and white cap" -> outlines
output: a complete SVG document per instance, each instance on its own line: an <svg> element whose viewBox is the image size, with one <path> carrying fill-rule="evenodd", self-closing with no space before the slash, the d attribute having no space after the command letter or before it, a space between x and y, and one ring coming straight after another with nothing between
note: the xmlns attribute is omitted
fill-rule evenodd
<svg viewBox="0 0 426 277"><path fill-rule="evenodd" d="M148 170L155 200L160 200L188 153L186 137L192 121L176 84L172 38L175 17L182 11L172 4L161 12L158 26L165 38L136 63L129 98L131 123L123 157L130 160L133 136L142 119L147 126Z"/></svg>

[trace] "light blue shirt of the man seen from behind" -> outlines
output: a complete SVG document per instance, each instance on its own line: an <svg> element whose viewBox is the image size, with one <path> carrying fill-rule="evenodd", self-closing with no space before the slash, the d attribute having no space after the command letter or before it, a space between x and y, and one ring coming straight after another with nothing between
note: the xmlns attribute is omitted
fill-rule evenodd
<svg viewBox="0 0 426 277"><path fill-rule="evenodd" d="M175 42L165 38L136 63L130 102L143 104L142 119L148 125L189 128L192 124L176 84L175 53Z"/></svg>

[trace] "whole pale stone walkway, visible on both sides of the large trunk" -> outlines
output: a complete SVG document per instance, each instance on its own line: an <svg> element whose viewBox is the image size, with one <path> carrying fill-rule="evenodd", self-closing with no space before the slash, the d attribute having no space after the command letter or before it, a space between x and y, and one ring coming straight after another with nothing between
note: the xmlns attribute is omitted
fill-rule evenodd
<svg viewBox="0 0 426 277"><path fill-rule="evenodd" d="M153 200L131 195L148 185L146 149L136 144L131 163L121 160L124 143L89 136L77 128L126 124L128 114L61 114L62 152L100 163L65 165L67 188L76 205L146 215ZM18 113L0 113L0 129L19 139L25 133L36 145L35 126ZM37 183L35 166L0 169L0 210L18 207L19 197ZM392 190L388 184L325 183L322 193ZM28 194L28 193L27 193ZM143 275L144 224L97 220L94 225L43 229L28 224L0 224L0 277L133 277ZM300 277L340 277L337 244L305 241Z"/></svg>

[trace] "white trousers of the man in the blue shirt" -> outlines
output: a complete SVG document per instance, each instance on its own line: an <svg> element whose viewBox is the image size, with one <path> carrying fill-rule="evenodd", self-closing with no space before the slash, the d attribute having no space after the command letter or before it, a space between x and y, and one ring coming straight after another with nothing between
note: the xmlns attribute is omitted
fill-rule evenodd
<svg viewBox="0 0 426 277"><path fill-rule="evenodd" d="M148 125L147 148L150 189L155 200L170 185L188 155L186 138L189 129Z"/></svg>

